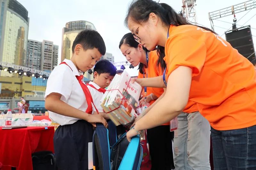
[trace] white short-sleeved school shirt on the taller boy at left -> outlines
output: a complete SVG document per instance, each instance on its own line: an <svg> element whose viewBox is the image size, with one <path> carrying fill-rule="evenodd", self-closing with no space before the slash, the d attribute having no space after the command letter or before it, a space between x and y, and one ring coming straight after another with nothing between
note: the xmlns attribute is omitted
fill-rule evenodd
<svg viewBox="0 0 256 170"><path fill-rule="evenodd" d="M53 92L59 93L62 95L60 100L85 112L88 105L82 87L76 79L76 76L83 75L83 73L77 70L72 61L65 59L63 62L66 62L73 71L66 64L56 66L47 80L44 100ZM60 125L73 124L79 120L51 111L49 111L49 118Z"/></svg>

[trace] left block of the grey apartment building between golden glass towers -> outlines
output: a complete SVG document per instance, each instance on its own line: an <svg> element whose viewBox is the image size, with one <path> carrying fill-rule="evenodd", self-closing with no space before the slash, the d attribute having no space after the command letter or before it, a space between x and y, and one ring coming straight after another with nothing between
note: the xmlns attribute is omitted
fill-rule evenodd
<svg viewBox="0 0 256 170"><path fill-rule="evenodd" d="M41 70L42 42L28 40L26 67Z"/></svg>

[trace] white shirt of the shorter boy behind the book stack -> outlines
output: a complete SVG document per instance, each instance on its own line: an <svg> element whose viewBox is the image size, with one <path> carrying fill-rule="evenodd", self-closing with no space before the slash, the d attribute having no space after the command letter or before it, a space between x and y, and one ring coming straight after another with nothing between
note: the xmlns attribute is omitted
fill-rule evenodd
<svg viewBox="0 0 256 170"><path fill-rule="evenodd" d="M93 103L95 105L95 107L97 107L98 111L99 112L104 112L103 111L103 108L100 106L101 102L100 100L102 99L104 93L103 92L99 92L97 89L100 89L100 86L97 85L96 83L90 81L89 84L93 85L95 88L91 87L90 85L87 85L91 95L92 95L92 100L93 100ZM93 109L93 112L96 112L96 109L95 107L93 106L92 104L92 109Z"/></svg>

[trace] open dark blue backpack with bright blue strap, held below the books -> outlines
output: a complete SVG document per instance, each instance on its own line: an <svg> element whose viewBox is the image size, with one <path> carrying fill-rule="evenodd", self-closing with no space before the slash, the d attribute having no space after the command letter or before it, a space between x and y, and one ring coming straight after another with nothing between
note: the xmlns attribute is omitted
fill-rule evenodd
<svg viewBox="0 0 256 170"><path fill-rule="evenodd" d="M117 139L115 126L111 125L106 129L103 124L97 123L93 133L92 150L94 170L140 169L143 156L140 137L133 137L129 142L124 133Z"/></svg>

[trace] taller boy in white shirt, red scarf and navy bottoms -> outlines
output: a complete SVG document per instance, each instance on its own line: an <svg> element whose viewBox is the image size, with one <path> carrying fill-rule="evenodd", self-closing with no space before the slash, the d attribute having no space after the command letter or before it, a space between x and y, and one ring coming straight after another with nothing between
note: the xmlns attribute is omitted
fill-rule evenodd
<svg viewBox="0 0 256 170"><path fill-rule="evenodd" d="M88 169L93 126L100 122L107 127L102 115L91 115L91 95L82 73L91 69L105 52L105 43L97 31L81 31L73 42L71 60L65 59L48 78L45 108L52 121L60 124L53 138L58 169Z"/></svg>

